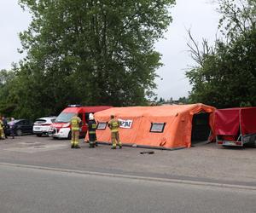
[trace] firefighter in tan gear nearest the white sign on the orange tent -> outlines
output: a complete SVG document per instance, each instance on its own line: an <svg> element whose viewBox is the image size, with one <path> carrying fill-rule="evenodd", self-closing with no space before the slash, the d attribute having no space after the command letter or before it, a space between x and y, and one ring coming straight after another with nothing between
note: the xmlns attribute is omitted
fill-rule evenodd
<svg viewBox="0 0 256 213"><path fill-rule="evenodd" d="M116 141L119 145L119 148L122 148L122 143L119 139L119 125L120 122L114 118L114 115L111 115L110 121L108 122L108 128L111 130L112 149L116 149Z"/></svg>

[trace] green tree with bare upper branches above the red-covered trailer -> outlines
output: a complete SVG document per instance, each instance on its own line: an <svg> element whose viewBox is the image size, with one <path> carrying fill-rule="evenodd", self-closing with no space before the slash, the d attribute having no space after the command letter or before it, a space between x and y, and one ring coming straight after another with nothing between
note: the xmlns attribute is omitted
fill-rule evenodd
<svg viewBox="0 0 256 213"><path fill-rule="evenodd" d="M193 88L189 99L215 107L256 105L256 2L220 0L219 28L225 41L199 49L189 32L189 49L197 62L186 72Z"/></svg>

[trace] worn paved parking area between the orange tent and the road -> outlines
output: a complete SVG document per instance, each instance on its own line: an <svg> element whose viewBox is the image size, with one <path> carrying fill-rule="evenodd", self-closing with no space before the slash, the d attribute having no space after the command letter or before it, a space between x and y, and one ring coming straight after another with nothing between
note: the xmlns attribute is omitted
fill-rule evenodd
<svg viewBox="0 0 256 213"><path fill-rule="evenodd" d="M68 140L23 135L0 141L0 163L26 164L114 174L215 181L256 186L256 148L199 144L189 149L141 154L142 148L108 145L71 149Z"/></svg>

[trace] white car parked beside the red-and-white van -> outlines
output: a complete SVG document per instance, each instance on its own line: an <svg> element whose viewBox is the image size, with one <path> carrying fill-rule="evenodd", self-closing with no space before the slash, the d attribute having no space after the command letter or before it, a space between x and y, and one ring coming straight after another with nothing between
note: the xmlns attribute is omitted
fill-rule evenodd
<svg viewBox="0 0 256 213"><path fill-rule="evenodd" d="M33 125L33 133L38 137L48 135L50 125L55 122L56 117L38 118Z"/></svg>

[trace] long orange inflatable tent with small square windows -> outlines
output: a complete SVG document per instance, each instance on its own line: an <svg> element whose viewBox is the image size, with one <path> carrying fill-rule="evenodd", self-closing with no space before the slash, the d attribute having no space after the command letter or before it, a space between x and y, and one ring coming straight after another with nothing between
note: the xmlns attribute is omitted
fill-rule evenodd
<svg viewBox="0 0 256 213"><path fill-rule="evenodd" d="M113 114L121 120L119 135L123 144L163 148L191 147L193 116L200 112L212 113L214 110L214 107L203 104L109 108L95 113L98 122L97 141L111 142L108 121Z"/></svg>

